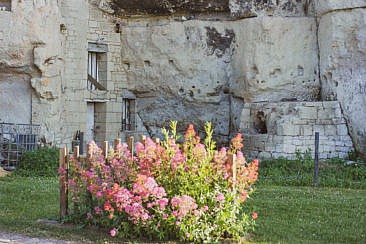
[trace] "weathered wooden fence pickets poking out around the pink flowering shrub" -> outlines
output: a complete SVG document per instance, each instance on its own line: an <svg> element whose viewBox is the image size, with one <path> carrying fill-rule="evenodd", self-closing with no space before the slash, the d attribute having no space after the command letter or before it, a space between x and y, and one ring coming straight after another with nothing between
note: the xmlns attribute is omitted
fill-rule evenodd
<svg viewBox="0 0 366 244"><path fill-rule="evenodd" d="M146 136L141 135L140 136L140 142L145 144ZM159 144L160 140L159 138L154 138L154 142ZM114 148L117 149L118 145L121 144L120 139L114 140ZM127 146L128 150L131 152L131 154L134 153L134 137L131 136L127 140ZM92 146L91 144L87 144L87 152L86 155L80 155L80 148L79 146L74 146L73 148L73 154L68 153L68 148L60 148L60 160L59 160L59 167L60 169L63 169L64 172L66 172L64 175L60 175L59 177L59 189L60 189L60 219L64 218L68 215L69 211L69 189L68 189L68 181L69 181L69 161L70 156L73 155L73 157L78 161L83 161L88 164L88 161L90 161L93 157L93 152L91 150ZM108 141L103 141L102 143L102 153L107 158L108 157ZM235 154L228 154L229 158L228 161L232 165L232 174L233 174L233 190L235 189L235 182L236 182L236 155Z"/></svg>

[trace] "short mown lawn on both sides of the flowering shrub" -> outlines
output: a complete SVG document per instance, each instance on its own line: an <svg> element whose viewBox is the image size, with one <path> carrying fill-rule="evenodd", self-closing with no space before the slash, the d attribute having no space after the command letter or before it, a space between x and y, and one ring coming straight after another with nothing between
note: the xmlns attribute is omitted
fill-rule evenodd
<svg viewBox="0 0 366 244"><path fill-rule="evenodd" d="M259 184L248 201L259 215L253 242L362 243L366 241L366 190ZM110 241L104 233L59 227L58 180L0 178L0 232L67 240Z"/></svg>

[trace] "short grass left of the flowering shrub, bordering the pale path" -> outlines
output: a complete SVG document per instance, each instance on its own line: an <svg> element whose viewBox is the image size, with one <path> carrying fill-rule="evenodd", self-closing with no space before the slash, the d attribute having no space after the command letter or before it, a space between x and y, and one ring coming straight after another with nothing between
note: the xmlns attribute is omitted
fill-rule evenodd
<svg viewBox="0 0 366 244"><path fill-rule="evenodd" d="M100 243L111 240L103 232L40 221L57 220L58 211L57 178L0 178L0 232Z"/></svg>

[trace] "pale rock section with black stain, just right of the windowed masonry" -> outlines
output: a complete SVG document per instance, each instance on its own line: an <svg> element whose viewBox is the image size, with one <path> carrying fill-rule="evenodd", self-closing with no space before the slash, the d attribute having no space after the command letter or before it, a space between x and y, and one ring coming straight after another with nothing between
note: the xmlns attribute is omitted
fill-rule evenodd
<svg viewBox="0 0 366 244"><path fill-rule="evenodd" d="M228 87L234 25L202 21L126 23L122 27L122 62L137 111L153 134L174 118L182 130L195 122L217 124L228 135ZM135 82L139 81L139 82ZM202 113L202 111L206 111ZM190 121L196 118L195 121Z"/></svg>

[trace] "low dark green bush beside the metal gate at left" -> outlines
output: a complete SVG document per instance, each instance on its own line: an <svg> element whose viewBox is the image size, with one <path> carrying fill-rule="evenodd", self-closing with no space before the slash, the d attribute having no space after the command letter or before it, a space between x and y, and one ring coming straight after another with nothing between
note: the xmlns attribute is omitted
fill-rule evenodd
<svg viewBox="0 0 366 244"><path fill-rule="evenodd" d="M59 151L57 148L40 148L25 152L18 163L16 175L57 176Z"/></svg>

